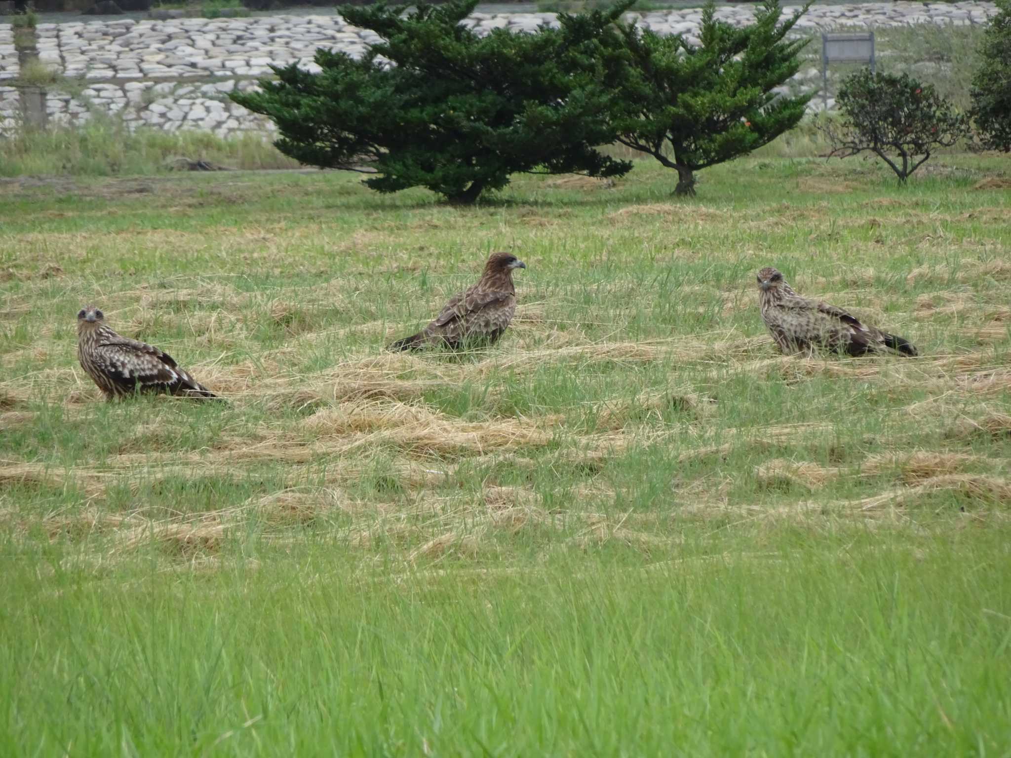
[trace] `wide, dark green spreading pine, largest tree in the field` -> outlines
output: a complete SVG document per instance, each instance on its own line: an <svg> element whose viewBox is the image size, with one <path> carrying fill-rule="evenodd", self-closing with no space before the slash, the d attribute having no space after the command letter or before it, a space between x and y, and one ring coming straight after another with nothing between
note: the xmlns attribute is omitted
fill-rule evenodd
<svg viewBox="0 0 1011 758"><path fill-rule="evenodd" d="M471 203L514 173L629 171L593 148L614 139L596 36L631 0L558 29L485 37L460 23L476 2L343 9L381 39L364 58L320 50L318 74L274 69L278 81L233 99L277 123L282 153L374 173L365 183L380 192L423 186Z"/></svg>

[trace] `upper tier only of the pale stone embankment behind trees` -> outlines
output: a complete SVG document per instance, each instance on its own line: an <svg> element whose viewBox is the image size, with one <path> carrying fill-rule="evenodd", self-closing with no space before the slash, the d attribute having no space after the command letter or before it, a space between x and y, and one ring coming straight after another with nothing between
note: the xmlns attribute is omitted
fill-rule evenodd
<svg viewBox="0 0 1011 758"><path fill-rule="evenodd" d="M792 12L794 8L787 8ZM962 3L867 3L812 7L798 23L800 30L840 26L890 27L917 23L985 23L994 5ZM702 11L669 10L633 14L658 33L694 36ZM721 7L717 16L735 25L749 23L749 5ZM555 25L553 13L475 13L465 23L478 33L494 28L535 31ZM269 74L269 64L297 62L312 68L316 48L360 56L374 32L344 23L340 16L271 16L255 18L180 18L171 21L89 21L39 24L39 58L69 77L143 79L151 77L256 77Z"/></svg>

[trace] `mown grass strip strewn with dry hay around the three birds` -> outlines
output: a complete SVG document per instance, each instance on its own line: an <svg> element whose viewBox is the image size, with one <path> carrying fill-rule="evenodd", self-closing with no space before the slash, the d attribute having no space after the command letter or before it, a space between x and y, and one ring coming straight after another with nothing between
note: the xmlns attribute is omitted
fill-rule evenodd
<svg viewBox="0 0 1011 758"><path fill-rule="evenodd" d="M889 204L884 181L853 177L847 187L866 189L829 201L803 173L794 191L752 172L744 199L731 190L728 201L720 182L734 174L719 171L690 204L636 183L577 192L571 204L559 195L533 206L550 225L529 223L522 204L461 212L410 193L363 198L381 214L323 220L315 206L349 187L333 176L173 179L114 207L90 204L86 185L73 190L65 210L37 208L40 226L8 232L18 251L4 264L0 314L8 517L27 529L34 503L50 502L42 512L104 525L53 539L123 531L113 548L129 547L147 529L187 554L221 549L238 525L283 541L337 513L348 523L335 539L374 546L363 535L394 518L411 522L398 539L415 561L461 541L477 555L508 542L498 520L522 527L535 512L578 542L586 533L574 525L594 508L619 520L637 508L726 518L815 497L852 517L874 509L853 502L913 507L938 492L998 507L1011 388L1007 198L985 180L954 193L938 180ZM218 215L237 204L239 215ZM381 350L499 246L530 262L507 339L477 355ZM776 355L751 286L766 263L924 357ZM98 404L73 356L78 300L100 301L122 334L172 353L229 409ZM639 461L650 462L648 486ZM191 477L213 496L191 491ZM522 514L511 506L476 526L488 491L518 493ZM430 506L444 515L409 515ZM200 513L215 514L200 528L213 539L187 526ZM626 542L647 549L667 529L654 520L649 539Z"/></svg>

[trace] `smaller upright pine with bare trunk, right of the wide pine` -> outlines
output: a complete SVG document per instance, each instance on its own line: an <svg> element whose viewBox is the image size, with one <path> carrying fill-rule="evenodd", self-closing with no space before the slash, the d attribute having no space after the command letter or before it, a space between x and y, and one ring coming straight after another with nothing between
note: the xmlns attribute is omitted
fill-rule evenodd
<svg viewBox="0 0 1011 758"><path fill-rule="evenodd" d="M810 94L772 89L800 68L806 39L787 40L805 5L779 22L776 0L765 0L754 23L719 21L709 0L699 46L619 24L628 57L618 140L677 171L675 194L695 194L695 172L746 155L793 128ZM669 147L668 147L669 146Z"/></svg>

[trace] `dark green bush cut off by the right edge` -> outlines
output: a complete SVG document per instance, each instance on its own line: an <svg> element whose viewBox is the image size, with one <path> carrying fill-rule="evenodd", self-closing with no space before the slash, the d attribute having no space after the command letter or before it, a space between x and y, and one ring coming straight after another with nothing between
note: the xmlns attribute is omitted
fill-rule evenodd
<svg viewBox="0 0 1011 758"><path fill-rule="evenodd" d="M1011 153L1011 0L996 3L973 78L973 116L985 147Z"/></svg>

